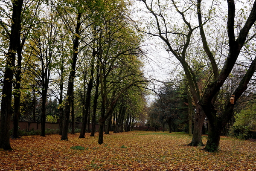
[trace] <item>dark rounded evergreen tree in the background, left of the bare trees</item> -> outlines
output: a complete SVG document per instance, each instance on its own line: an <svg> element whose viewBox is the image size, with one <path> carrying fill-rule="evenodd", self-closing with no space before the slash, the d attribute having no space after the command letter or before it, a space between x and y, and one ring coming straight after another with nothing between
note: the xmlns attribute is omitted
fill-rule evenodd
<svg viewBox="0 0 256 171"><path fill-rule="evenodd" d="M167 123L169 133L185 131L187 124L186 94L172 83L165 83L159 90L159 99L150 106L149 118L151 126L163 126Z"/></svg>

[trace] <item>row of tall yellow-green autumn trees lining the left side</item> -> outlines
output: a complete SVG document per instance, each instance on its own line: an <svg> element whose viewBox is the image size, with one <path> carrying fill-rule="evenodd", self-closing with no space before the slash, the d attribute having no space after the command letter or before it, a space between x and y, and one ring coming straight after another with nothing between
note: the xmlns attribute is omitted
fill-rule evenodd
<svg viewBox="0 0 256 171"><path fill-rule="evenodd" d="M12 137L17 138L20 115L29 107L26 99L31 99L33 121L41 103L41 136L45 136L47 99L58 100L61 140L68 139L75 107L82 118L79 138L84 138L91 114L92 124L99 123L99 144L105 122L111 121L108 118L115 115L119 123L129 111L129 124L139 117L148 81L140 60L142 36L132 29L129 5L119 0L1 2L0 55L5 65L1 68L0 148L12 149L10 120L14 113Z"/></svg>

